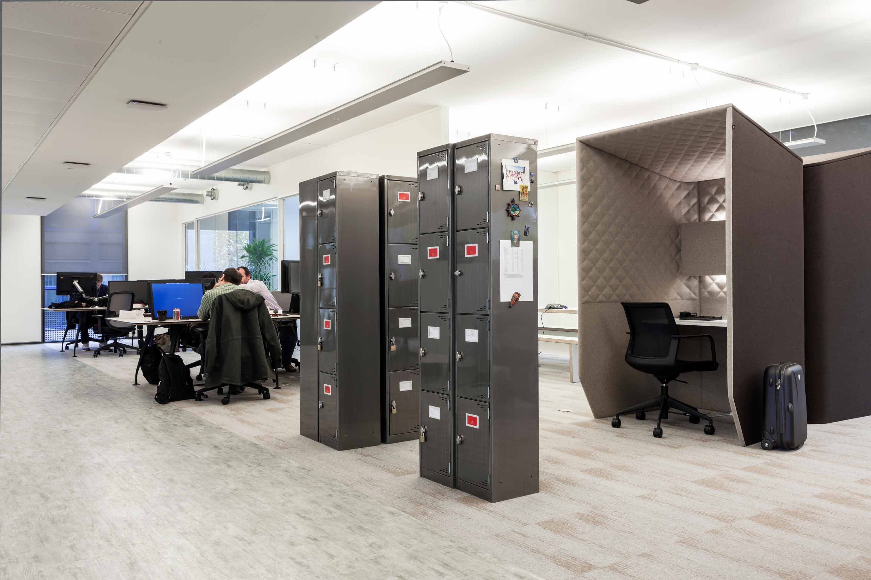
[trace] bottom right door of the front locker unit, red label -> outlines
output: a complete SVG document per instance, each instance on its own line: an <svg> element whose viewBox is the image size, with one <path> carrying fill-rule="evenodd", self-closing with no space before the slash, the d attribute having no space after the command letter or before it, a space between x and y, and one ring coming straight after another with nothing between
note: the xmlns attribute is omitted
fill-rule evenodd
<svg viewBox="0 0 871 580"><path fill-rule="evenodd" d="M456 477L490 489L490 405L456 399Z"/></svg>

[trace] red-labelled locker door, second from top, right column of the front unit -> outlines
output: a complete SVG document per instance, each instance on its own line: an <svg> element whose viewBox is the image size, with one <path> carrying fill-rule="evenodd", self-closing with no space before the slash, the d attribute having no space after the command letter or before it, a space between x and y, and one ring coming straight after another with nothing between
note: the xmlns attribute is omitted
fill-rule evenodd
<svg viewBox="0 0 871 580"><path fill-rule="evenodd" d="M456 232L456 312L485 313L490 298L490 230Z"/></svg>

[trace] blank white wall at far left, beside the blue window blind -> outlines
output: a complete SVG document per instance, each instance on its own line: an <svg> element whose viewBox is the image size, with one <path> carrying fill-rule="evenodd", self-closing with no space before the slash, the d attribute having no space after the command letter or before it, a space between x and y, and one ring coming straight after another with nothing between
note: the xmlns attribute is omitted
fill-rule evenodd
<svg viewBox="0 0 871 580"><path fill-rule="evenodd" d="M0 343L41 342L43 256L39 216L3 215Z"/></svg>

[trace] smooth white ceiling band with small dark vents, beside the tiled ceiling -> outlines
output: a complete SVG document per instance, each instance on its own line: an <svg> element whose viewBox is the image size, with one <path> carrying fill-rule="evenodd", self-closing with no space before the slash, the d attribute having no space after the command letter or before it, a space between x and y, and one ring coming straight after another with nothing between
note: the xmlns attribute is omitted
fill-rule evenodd
<svg viewBox="0 0 871 580"><path fill-rule="evenodd" d="M67 10L65 3L52 5ZM7 183L3 213L45 215L55 210L373 5L151 3ZM91 12L101 17L109 13ZM98 27L90 21L78 26L97 35ZM4 92L5 86L3 79ZM130 99L167 103L168 107L132 110L125 106ZM64 161L91 166L68 170ZM27 196L48 199L30 202L24 199Z"/></svg>

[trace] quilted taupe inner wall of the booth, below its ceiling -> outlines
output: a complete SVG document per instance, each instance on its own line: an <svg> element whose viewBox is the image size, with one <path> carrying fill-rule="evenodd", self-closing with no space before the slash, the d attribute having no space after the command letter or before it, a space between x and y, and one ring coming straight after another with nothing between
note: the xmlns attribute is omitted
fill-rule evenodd
<svg viewBox="0 0 871 580"><path fill-rule="evenodd" d="M699 216L698 183L683 183L581 143L581 303L698 300L680 277L679 223Z"/></svg>

